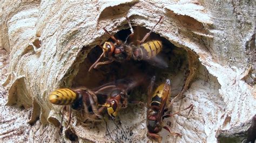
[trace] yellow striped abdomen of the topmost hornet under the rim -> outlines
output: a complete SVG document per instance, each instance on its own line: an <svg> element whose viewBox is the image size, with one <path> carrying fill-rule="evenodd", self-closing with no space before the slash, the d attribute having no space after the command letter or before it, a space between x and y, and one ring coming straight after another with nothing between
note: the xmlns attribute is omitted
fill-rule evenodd
<svg viewBox="0 0 256 143"><path fill-rule="evenodd" d="M150 59L153 56L156 56L163 48L163 44L159 40L153 40L153 41L143 43L140 47L143 48L142 51L146 51L142 53L143 54L142 56L145 60L145 59Z"/></svg>

